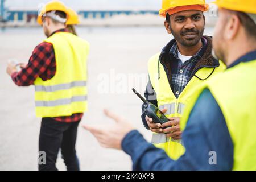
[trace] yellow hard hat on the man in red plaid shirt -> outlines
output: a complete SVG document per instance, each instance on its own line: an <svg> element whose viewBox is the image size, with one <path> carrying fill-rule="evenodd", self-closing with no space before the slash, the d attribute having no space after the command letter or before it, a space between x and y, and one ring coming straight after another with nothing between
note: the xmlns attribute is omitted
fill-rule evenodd
<svg viewBox="0 0 256 182"><path fill-rule="evenodd" d="M43 8L41 9L37 19L38 24L40 25L42 24L42 16L46 14L48 11L63 11L64 13L67 14L67 18L69 16L67 7L62 2L51 1L51 2L48 2L46 5L44 5Z"/></svg>

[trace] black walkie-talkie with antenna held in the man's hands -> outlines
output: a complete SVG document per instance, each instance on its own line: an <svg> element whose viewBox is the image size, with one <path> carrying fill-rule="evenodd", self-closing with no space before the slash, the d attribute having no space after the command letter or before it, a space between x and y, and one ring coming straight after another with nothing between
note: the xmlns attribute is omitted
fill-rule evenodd
<svg viewBox="0 0 256 182"><path fill-rule="evenodd" d="M144 111L146 115L153 119L154 123L160 123L161 125L169 119L151 102L146 101L134 88L132 89L135 94L144 102Z"/></svg>

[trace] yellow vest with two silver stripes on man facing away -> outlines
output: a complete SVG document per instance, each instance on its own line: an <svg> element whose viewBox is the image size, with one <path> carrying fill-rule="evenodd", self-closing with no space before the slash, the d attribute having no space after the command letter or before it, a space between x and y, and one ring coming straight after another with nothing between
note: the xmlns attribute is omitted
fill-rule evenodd
<svg viewBox="0 0 256 182"><path fill-rule="evenodd" d="M55 52L56 73L35 84L36 117L70 116L87 110L87 68L89 43L68 32L57 32L44 40Z"/></svg>

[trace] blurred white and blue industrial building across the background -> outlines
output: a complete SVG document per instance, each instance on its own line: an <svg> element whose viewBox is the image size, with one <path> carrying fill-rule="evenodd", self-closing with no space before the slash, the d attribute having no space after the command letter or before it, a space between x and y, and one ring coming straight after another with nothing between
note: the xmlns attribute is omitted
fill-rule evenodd
<svg viewBox="0 0 256 182"><path fill-rule="evenodd" d="M34 27L36 17L40 9L40 4L37 6L14 6L1 1L1 22L0 27ZM96 3L96 2L95 2ZM97 3L96 3L97 4ZM211 9L210 5L210 9ZM212 8L214 9L214 7ZM211 9L211 10L212 10ZM76 9L80 19L80 26L162 26L159 20L157 6L117 6L117 7L102 7L102 6L81 6ZM205 13L208 25L213 26L216 22L214 12Z"/></svg>

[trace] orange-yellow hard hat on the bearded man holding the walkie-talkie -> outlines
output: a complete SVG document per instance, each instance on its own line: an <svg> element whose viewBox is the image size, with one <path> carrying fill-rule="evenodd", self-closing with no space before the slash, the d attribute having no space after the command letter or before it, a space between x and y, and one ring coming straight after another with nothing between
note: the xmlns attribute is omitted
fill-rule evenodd
<svg viewBox="0 0 256 182"><path fill-rule="evenodd" d="M175 14L185 10L200 10L207 11L209 5L205 4L205 0L163 0L162 9L159 11L160 16Z"/></svg>

